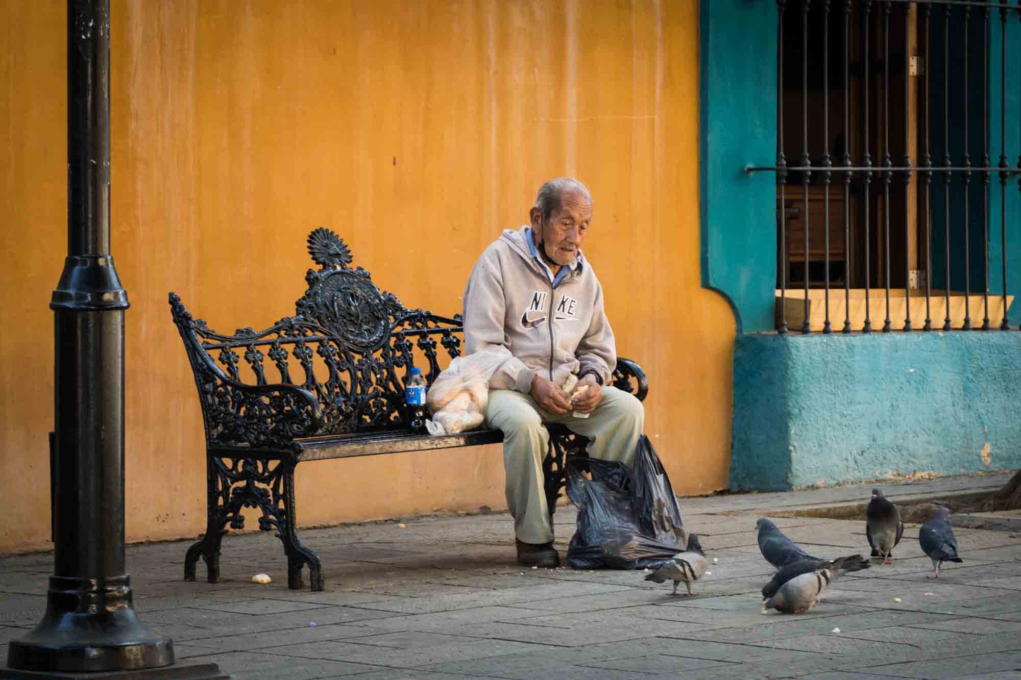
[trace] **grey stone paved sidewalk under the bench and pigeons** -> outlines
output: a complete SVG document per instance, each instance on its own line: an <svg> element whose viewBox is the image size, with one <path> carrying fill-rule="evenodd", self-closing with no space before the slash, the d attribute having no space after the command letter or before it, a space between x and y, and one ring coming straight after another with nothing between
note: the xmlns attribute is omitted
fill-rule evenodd
<svg viewBox="0 0 1021 680"><path fill-rule="evenodd" d="M896 501L1008 478L883 488ZM762 614L759 589L773 570L756 520L775 518L812 553L864 552L861 521L772 513L867 497L844 487L682 499L686 526L719 561L690 598L640 572L523 570L502 514L303 531L325 567L319 593L287 589L268 534L226 537L217 584L181 580L187 542L131 546L128 562L150 631L171 635L180 660L214 661L235 678L1021 678L1018 533L956 529L965 562L929 581L909 525L892 566L848 575L807 614ZM562 554L574 522L572 507L556 513ZM40 620L51 570L48 553L0 558L4 659ZM273 583L251 583L259 572Z"/></svg>

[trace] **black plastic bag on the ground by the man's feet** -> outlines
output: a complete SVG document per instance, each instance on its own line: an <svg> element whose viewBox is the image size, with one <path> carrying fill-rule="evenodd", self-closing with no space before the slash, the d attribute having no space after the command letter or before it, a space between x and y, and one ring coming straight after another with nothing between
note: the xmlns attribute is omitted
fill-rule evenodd
<svg viewBox="0 0 1021 680"><path fill-rule="evenodd" d="M687 532L677 497L644 435L633 468L576 457L567 473L568 497L578 506L578 530L568 546L575 569L644 569L684 550Z"/></svg>

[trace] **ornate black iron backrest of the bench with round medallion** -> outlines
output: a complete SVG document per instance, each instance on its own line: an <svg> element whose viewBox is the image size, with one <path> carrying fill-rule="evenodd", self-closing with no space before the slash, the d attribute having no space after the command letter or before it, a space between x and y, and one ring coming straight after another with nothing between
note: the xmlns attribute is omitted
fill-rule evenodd
<svg viewBox="0 0 1021 680"><path fill-rule="evenodd" d="M405 428L411 368L418 365L431 385L460 353L459 314L404 307L380 291L369 272L349 266L350 250L332 231L309 234L308 252L320 269L305 275L308 289L296 302L297 313L263 331L216 333L169 294L202 401L207 444L283 445L312 433Z"/></svg>

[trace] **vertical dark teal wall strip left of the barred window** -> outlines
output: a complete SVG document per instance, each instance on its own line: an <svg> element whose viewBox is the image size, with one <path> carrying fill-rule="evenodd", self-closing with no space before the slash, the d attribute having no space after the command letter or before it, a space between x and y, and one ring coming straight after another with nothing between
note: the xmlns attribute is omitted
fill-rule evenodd
<svg viewBox="0 0 1021 680"><path fill-rule="evenodd" d="M738 333L773 328L776 286L775 2L702 0L701 278Z"/></svg>

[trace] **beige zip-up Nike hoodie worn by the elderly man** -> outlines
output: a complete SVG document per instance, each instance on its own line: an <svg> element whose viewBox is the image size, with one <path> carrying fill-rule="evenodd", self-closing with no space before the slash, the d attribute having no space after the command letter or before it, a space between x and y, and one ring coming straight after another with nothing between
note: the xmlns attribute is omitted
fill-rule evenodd
<svg viewBox="0 0 1021 680"><path fill-rule="evenodd" d="M465 288L465 354L497 346L510 351L489 381L493 389L527 394L536 373L564 385L586 371L607 385L617 351L595 273L579 251L579 265L552 288L529 252L525 230L504 230L472 270Z"/></svg>

